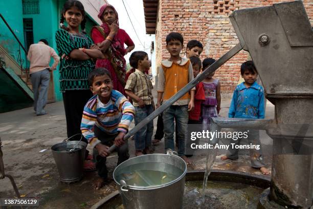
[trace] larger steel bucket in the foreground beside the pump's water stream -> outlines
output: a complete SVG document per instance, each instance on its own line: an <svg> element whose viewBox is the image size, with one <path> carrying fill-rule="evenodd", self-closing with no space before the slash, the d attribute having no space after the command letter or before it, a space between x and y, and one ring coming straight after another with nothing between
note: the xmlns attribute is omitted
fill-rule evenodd
<svg viewBox="0 0 313 209"><path fill-rule="evenodd" d="M155 165L162 163L162 166ZM179 171L179 175L173 181L161 185L134 186L127 185L120 179L120 175L129 171L136 164L144 165L145 170L162 171L171 173ZM150 154L134 157L126 160L114 170L113 178L119 185L119 192L123 199L123 205L127 209L133 208L182 208L185 188L185 175L187 165L185 161L172 152L168 154Z"/></svg>

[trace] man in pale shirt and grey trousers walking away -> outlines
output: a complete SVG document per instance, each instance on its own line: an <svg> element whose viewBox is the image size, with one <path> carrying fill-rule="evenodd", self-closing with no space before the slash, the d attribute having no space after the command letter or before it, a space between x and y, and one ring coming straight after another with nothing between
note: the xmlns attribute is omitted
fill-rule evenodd
<svg viewBox="0 0 313 209"><path fill-rule="evenodd" d="M54 59L52 67L49 66L51 57ZM48 46L46 39L40 39L38 44L32 44L27 58L30 61L29 73L34 92L34 110L37 116L44 115L47 114L43 109L48 100L50 71L56 69L60 58L54 49Z"/></svg>

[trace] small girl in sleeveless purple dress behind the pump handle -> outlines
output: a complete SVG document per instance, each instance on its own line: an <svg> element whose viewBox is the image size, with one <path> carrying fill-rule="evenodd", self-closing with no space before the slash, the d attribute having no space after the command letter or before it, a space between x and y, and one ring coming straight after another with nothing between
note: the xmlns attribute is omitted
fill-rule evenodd
<svg viewBox="0 0 313 209"><path fill-rule="evenodd" d="M212 65L215 59L205 58L203 60L203 69ZM214 79L214 72L206 77L202 83L205 90L206 100L202 103L202 117L205 129L209 129L210 118L217 117L220 110L220 83L218 79Z"/></svg>

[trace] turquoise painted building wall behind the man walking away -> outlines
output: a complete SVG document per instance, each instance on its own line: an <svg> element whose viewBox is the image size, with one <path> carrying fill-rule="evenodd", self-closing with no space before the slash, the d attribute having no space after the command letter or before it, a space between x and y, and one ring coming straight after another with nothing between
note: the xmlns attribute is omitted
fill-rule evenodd
<svg viewBox="0 0 313 209"><path fill-rule="evenodd" d="M55 32L59 28L61 10L65 0L39 0L39 14L23 14L22 0L0 0L0 13L6 18L11 28L16 33L21 43L25 46L23 18L33 19L34 43L44 38L49 42L49 46L56 50ZM90 35L90 30L96 23L87 17L86 32ZM19 45L11 34L9 29L0 20L0 44L9 52L9 54L17 61ZM57 50L56 50L57 51ZM22 51L22 59L24 59L24 67L29 67L26 61L26 54ZM53 60L51 60L52 65ZM59 91L59 67L53 71L55 100L62 100L62 94Z"/></svg>

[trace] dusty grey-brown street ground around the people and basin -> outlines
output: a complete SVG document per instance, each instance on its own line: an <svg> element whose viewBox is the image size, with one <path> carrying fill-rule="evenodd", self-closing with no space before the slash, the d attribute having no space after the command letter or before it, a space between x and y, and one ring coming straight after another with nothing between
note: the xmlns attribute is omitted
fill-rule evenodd
<svg viewBox="0 0 313 209"><path fill-rule="evenodd" d="M227 117L230 104L229 96L222 98L221 117ZM93 181L96 172L85 173L77 183L65 184L59 181L57 167L51 147L66 138L66 122L63 102L48 104L47 115L36 116L32 108L0 114L0 137L2 140L5 172L13 176L19 193L25 198L39 200L39 208L89 208L103 197L117 190L114 182L95 191ZM267 101L266 118L274 118L274 106ZM154 132L157 127L154 119ZM132 128L134 123L131 123ZM227 143L227 142L225 142ZM261 143L264 160L271 169L272 139L261 131ZM42 151L47 149L46 151ZM89 149L89 148L87 148ZM129 140L129 154L133 157L135 142ZM164 139L155 147L155 153L164 153ZM248 152L241 152L237 161L221 161L219 151L213 169L234 170L261 173L250 167ZM191 157L193 164L189 170L204 170L205 156ZM108 157L107 165L111 175L117 163L117 155ZM13 198L14 194L9 179L0 180L0 197Z"/></svg>

